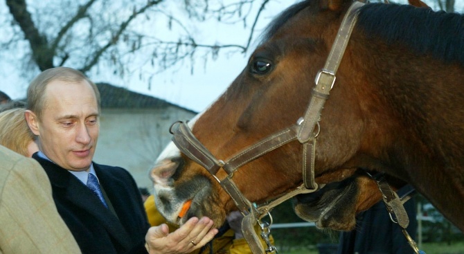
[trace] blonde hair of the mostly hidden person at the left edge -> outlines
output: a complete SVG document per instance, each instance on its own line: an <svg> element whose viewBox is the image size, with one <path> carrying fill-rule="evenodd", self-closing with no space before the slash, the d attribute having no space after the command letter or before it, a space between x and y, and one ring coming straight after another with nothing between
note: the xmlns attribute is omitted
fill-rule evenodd
<svg viewBox="0 0 464 254"><path fill-rule="evenodd" d="M0 113L0 145L28 156L28 145L35 139L24 118L24 108L9 109Z"/></svg>

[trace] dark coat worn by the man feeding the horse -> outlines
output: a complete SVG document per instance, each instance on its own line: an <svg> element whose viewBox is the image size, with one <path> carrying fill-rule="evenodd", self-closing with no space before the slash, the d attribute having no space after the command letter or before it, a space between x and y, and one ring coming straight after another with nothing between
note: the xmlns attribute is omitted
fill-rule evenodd
<svg viewBox="0 0 464 254"><path fill-rule="evenodd" d="M57 210L82 253L147 253L145 234L150 224L139 189L129 172L121 167L93 163L100 186L107 194L105 199L114 208L108 209L73 174L37 153L33 158L44 167Z"/></svg>

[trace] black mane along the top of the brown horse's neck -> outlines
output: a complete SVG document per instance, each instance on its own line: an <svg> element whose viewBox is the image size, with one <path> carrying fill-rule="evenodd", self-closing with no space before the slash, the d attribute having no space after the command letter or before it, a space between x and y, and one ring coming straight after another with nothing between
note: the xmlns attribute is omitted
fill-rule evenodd
<svg viewBox="0 0 464 254"><path fill-rule="evenodd" d="M357 28L387 44L410 46L444 62L464 64L464 16L407 5L371 3L359 12ZM355 28L356 29L356 28Z"/></svg>

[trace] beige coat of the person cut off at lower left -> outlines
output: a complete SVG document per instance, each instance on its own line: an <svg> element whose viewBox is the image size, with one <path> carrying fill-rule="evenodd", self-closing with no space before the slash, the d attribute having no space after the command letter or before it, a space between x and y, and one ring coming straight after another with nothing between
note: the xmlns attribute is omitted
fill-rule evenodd
<svg viewBox="0 0 464 254"><path fill-rule="evenodd" d="M80 253L37 161L0 146L0 254Z"/></svg>

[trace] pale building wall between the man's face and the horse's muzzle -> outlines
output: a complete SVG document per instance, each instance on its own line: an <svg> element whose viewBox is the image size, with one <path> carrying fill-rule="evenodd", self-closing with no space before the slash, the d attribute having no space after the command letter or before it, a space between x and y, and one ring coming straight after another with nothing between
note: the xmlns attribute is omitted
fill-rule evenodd
<svg viewBox="0 0 464 254"><path fill-rule="evenodd" d="M195 114L178 107L168 109L102 109L100 136L93 161L124 167L139 187L152 190L148 171L170 142L169 127Z"/></svg>

